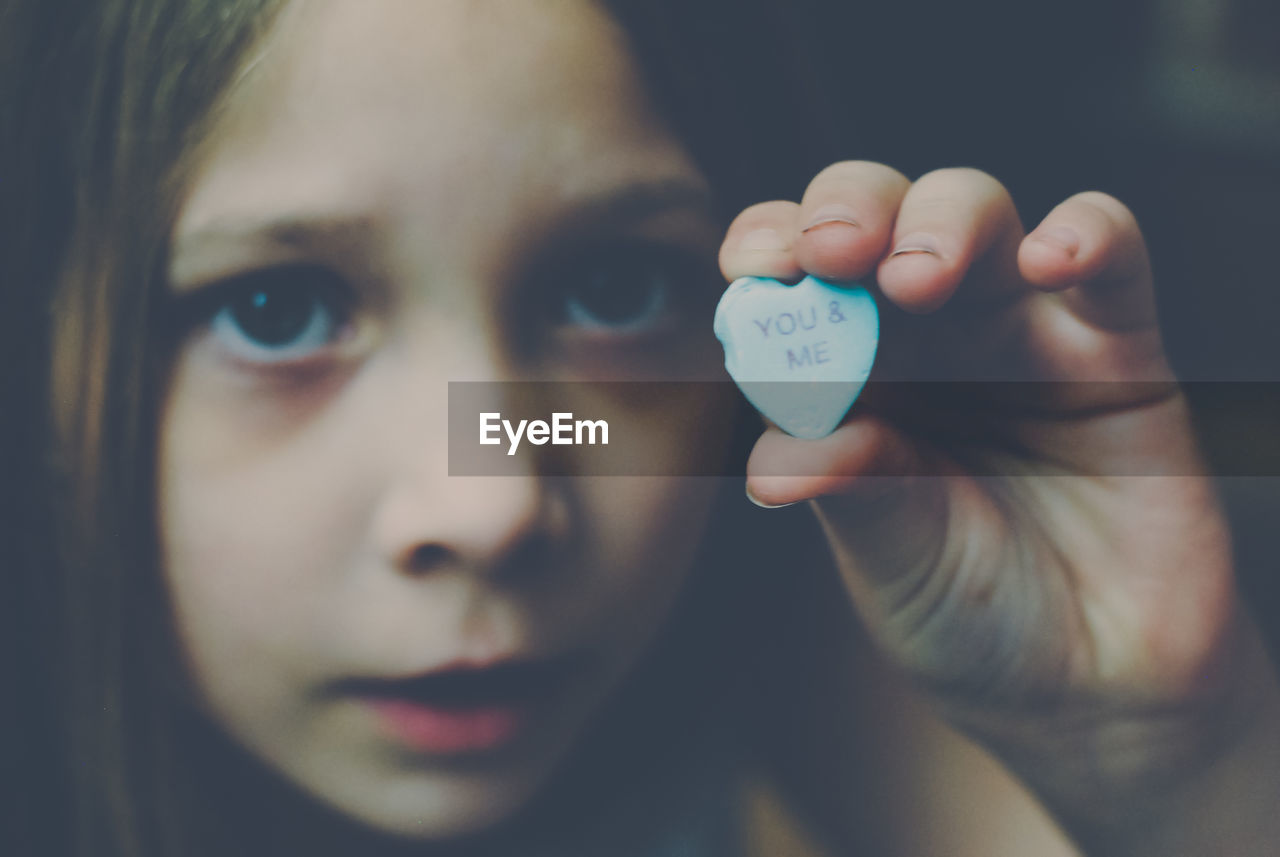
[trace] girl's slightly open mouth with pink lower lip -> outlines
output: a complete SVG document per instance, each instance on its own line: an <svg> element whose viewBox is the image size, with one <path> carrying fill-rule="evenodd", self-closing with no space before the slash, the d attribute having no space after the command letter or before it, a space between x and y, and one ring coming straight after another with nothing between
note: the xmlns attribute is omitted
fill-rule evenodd
<svg viewBox="0 0 1280 857"><path fill-rule="evenodd" d="M403 679L352 679L342 689L367 705L383 733L411 751L483 753L527 733L573 672L563 659L508 661Z"/></svg>

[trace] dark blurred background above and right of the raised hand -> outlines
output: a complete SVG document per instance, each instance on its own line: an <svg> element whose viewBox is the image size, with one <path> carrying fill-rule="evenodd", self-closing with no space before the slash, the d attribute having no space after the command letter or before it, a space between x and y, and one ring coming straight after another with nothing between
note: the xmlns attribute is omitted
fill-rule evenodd
<svg viewBox="0 0 1280 857"><path fill-rule="evenodd" d="M1280 400L1280 3L826 4L813 33L858 156L992 171L1034 225L1078 191L1143 224L1166 344L1211 459L1275 454ZM852 36L852 38L850 38ZM1199 389L1208 395L1197 397ZM1242 587L1280 651L1280 480L1222 480Z"/></svg>

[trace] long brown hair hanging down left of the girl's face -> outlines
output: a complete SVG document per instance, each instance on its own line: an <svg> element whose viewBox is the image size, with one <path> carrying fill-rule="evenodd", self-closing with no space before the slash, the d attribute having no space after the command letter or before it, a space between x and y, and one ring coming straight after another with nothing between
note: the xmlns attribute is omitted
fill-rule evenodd
<svg viewBox="0 0 1280 857"><path fill-rule="evenodd" d="M148 333L184 155L276 5L19 0L0 20L6 333L35 379L6 402L15 430L42 428L9 448L27 478L6 500L31 509L10 628L42 663L10 686L28 712L15 733L37 741L14 753L35 794L5 853L193 853L160 704L175 670L154 573Z"/></svg>

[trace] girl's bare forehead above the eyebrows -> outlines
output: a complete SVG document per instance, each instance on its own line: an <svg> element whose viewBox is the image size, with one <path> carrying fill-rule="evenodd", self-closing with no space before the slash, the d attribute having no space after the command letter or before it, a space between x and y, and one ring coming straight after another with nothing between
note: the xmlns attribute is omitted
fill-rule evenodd
<svg viewBox="0 0 1280 857"><path fill-rule="evenodd" d="M509 207L691 171L590 0L294 0L202 153L186 228L339 200Z"/></svg>

